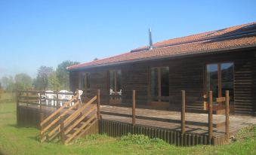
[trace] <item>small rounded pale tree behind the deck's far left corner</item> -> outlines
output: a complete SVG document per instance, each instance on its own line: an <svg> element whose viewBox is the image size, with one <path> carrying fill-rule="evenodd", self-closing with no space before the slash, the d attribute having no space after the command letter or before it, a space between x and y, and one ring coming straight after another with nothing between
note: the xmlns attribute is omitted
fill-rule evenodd
<svg viewBox="0 0 256 155"><path fill-rule="evenodd" d="M32 88L32 78L28 74L16 74L14 79L15 86L18 90L29 90Z"/></svg>

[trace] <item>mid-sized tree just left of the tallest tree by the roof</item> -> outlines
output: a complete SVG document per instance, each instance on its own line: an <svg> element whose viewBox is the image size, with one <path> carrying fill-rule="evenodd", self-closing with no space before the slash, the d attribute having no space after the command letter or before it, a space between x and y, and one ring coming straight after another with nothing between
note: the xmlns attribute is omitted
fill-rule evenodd
<svg viewBox="0 0 256 155"><path fill-rule="evenodd" d="M53 71L54 69L52 67L44 65L38 69L38 73L34 81L35 88L37 90L46 90L48 87L48 78Z"/></svg>

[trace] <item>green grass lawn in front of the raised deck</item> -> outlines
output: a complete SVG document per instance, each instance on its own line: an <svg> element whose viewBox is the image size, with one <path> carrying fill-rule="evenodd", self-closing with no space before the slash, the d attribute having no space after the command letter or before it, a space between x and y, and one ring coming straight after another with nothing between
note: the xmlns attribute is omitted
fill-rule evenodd
<svg viewBox="0 0 256 155"><path fill-rule="evenodd" d="M6 98L5 96L5 101ZM40 143L38 129L17 128L14 102L1 100L0 154L256 154L253 127L240 131L236 135L236 142L220 146L176 147L143 135L128 135L122 138L91 135L66 146Z"/></svg>

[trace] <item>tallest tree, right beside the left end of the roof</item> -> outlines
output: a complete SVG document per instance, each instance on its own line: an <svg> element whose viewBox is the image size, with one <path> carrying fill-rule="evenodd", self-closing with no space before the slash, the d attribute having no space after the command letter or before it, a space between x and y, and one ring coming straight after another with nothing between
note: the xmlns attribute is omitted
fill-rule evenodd
<svg viewBox="0 0 256 155"><path fill-rule="evenodd" d="M63 90L69 90L69 72L66 70L70 65L77 65L79 62L71 62L69 60L61 62L56 69L57 78L60 81L60 87Z"/></svg>

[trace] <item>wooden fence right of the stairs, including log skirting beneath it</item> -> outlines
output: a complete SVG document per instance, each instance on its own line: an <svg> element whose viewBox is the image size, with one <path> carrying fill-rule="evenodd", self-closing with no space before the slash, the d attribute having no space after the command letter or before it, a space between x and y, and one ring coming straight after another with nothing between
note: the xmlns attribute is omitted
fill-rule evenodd
<svg viewBox="0 0 256 155"><path fill-rule="evenodd" d="M120 114L116 112L109 112L109 111L100 111L100 114L107 114L113 115L117 117L130 117L131 124L129 123L122 123L119 121L114 120L100 120L100 132L106 132L108 135L111 136L120 136L124 135L128 132L131 133L139 133L144 135L149 135L150 137L162 138L165 141L169 142L170 144L177 144L177 145L193 145L193 144L223 144L225 141L229 139L229 91L226 91L226 96L217 98L216 102L226 103L226 120L221 123L214 123L213 122L213 99L212 99L212 92L210 91L208 96L208 123L203 122L196 122L196 121L187 121L186 120L186 93L184 90L181 91L181 111L180 111L180 120L168 119L168 118L159 118L159 117L147 117L147 116L138 116L136 115L136 98L135 98L135 90L132 91L132 114ZM140 120L155 120L160 122L167 122L167 123L180 123L180 132L177 130L171 129L163 129L161 126L153 127L153 126L142 126L136 123L136 119ZM193 125L193 126L207 126L208 127L208 134L200 135L196 133L186 132L186 125ZM225 136L222 137L215 137L213 129L225 127ZM122 131L124 130L124 131ZM161 135L167 134L167 135ZM160 135L159 135L160 134ZM170 135L171 134L171 135ZM179 140L177 140L177 138ZM192 139L190 139L192 138ZM175 142L174 142L175 141Z"/></svg>

